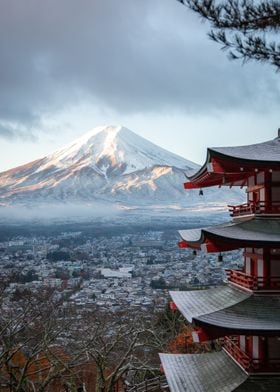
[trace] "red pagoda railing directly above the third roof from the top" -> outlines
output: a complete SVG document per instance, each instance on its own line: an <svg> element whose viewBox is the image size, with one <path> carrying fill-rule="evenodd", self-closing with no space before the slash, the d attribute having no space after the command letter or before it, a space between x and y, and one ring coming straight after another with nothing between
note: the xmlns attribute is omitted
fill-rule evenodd
<svg viewBox="0 0 280 392"><path fill-rule="evenodd" d="M241 270L225 270L229 282L250 290L280 290L280 276L252 276Z"/></svg>

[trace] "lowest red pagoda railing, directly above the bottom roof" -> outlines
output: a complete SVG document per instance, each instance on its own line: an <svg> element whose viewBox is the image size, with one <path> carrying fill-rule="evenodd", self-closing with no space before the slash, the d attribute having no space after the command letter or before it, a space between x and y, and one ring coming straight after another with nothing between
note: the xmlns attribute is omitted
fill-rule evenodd
<svg viewBox="0 0 280 392"><path fill-rule="evenodd" d="M248 354L241 350L238 346L238 338L225 337L225 351L232 356L247 371L252 372L279 372L280 358L251 358Z"/></svg>

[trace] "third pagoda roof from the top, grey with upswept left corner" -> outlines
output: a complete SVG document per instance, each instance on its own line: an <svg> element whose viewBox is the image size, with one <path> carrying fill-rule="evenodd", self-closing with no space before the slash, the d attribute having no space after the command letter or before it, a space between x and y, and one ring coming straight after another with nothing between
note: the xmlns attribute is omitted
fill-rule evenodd
<svg viewBox="0 0 280 392"><path fill-rule="evenodd" d="M171 291L182 315L197 326L251 333L280 332L280 297L254 295L231 285L199 291Z"/></svg>

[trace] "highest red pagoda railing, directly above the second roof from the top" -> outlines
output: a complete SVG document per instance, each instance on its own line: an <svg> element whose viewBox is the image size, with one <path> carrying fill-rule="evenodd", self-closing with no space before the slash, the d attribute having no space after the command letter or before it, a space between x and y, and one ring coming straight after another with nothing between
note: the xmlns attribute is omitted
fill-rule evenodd
<svg viewBox="0 0 280 392"><path fill-rule="evenodd" d="M280 201L249 202L237 206L228 205L228 209L232 217L251 214L280 214Z"/></svg>

